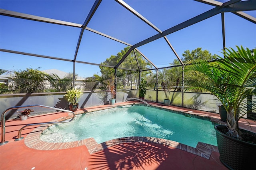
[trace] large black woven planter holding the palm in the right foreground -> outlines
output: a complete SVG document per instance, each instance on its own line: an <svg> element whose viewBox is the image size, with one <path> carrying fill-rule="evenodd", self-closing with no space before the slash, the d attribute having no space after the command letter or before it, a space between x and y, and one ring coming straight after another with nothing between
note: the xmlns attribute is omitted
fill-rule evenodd
<svg viewBox="0 0 256 170"><path fill-rule="evenodd" d="M244 142L227 136L222 130L227 129L225 125L216 125L216 137L220 161L232 170L252 170L255 169L256 144ZM240 129L242 132L249 132Z"/></svg>

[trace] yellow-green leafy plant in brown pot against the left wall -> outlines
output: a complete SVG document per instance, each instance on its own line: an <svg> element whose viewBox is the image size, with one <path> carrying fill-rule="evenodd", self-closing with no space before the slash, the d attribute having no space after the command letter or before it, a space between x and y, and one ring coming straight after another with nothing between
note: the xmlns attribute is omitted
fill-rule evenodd
<svg viewBox="0 0 256 170"><path fill-rule="evenodd" d="M83 95L82 90L81 89L71 89L71 90L67 90L66 94L64 95L64 97L66 97L66 99L69 102L69 109L70 111L77 111L78 109L78 99Z"/></svg>

